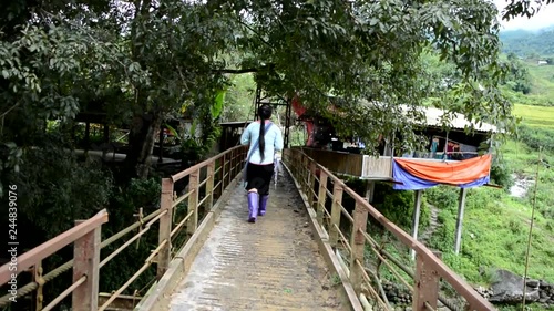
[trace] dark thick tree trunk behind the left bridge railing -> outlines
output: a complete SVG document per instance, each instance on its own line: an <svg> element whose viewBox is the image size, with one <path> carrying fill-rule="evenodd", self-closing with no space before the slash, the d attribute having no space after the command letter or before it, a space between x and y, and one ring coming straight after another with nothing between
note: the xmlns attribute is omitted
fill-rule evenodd
<svg viewBox="0 0 554 311"><path fill-rule="evenodd" d="M162 114L157 112L135 115L129 133L129 152L125 166L130 176L145 179L148 177L154 149L154 138L162 125Z"/></svg>

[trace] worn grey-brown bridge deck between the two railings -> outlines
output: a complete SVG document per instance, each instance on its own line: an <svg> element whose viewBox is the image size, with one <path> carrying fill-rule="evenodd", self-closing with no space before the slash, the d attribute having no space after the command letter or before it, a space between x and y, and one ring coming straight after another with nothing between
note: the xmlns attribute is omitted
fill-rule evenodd
<svg viewBox="0 0 554 311"><path fill-rule="evenodd" d="M287 174L270 195L266 216L248 224L246 193L234 189L170 310L349 310Z"/></svg>

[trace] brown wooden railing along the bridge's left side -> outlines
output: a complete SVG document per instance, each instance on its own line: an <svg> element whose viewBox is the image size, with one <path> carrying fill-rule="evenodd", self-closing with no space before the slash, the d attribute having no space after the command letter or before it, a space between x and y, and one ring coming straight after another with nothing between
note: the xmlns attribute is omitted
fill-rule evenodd
<svg viewBox="0 0 554 311"><path fill-rule="evenodd" d="M202 220L198 219L199 217L198 207L202 206L206 210L213 207L215 200L219 198L215 196L215 193L218 193L220 195L224 191L224 189L230 184L230 182L235 178L235 176L237 176L240 173L245 155L246 155L246 146L233 147L202 163L198 163L183 172L179 172L176 175L172 176L171 178L164 178L162 180L162 201L160 209L144 217L142 216L141 211L140 219L137 221L133 222L132 225L127 226L126 228L122 229L117 234L109 237L107 239L101 242L100 226L104 222L107 222L107 212L104 209L94 217L90 218L89 220L78 224L72 229L32 249L31 251L25 252L22 256L18 257L17 259L18 272L22 272L31 267L34 267L34 270L41 269L40 265L44 258L48 258L49 256L51 256L52 253L57 252L58 250L68 246L71 242L75 242L75 249L78 248L81 249L82 246L78 247L76 243L84 238L88 238L90 241L92 231L95 231L95 235L98 235L98 237L94 237L98 238L98 243L93 245L89 243L86 246L88 247L93 246L94 252L98 252L98 257L100 258L101 249L122 239L124 236L129 235L130 232L133 232L135 229L138 229L138 232L126 239L126 241L122 246L120 246L117 249L107 255L102 261L100 261L99 259L99 262L94 262L94 265L92 265L93 267L90 267L92 270L89 273L80 274L79 278L76 278L76 276L74 274L73 283L68 289L65 289L60 296L58 296L53 301L51 301L47 307L44 307L44 309L52 309L60 301L62 301L64 297L73 292L74 311L105 310L120 296L120 293L122 293L134 280L136 280L138 276L141 276L148 267L151 267L152 263L157 265L158 269L157 279L162 277L162 274L165 271L165 268L168 265L168 261L171 261L172 259L171 249L174 247L181 247L181 246L173 246L172 239L174 239L175 236L177 236L181 229L183 228L187 229L187 237L191 237L194 234L194 231L198 226L198 220ZM206 178L204 178L203 180L199 180L201 170L206 173L205 174ZM188 185L191 190L184 196L174 199L175 196L173 193L174 183L186 176L191 176ZM167 186L170 184L171 184L171 191L167 191L168 190ZM203 193L205 194L205 197L203 197L202 200L198 200L201 195L201 188L204 190ZM188 211L186 212L184 219L175 222L178 224L177 226L174 227L173 226L174 219L172 212L181 203L185 201L186 198L188 198L188 207L187 207ZM167 205L168 203L170 205ZM126 249L141 236L143 236L146 231L148 231L148 229L151 229L151 226L156 221L160 221L160 232L158 232L160 239L157 246L155 246L154 251L150 253L148 258L145 260L142 268L140 268L138 271L136 271L134 276L132 276L122 287L120 287L120 289L112 292L112 294L110 294L110 297L107 298L107 300L104 302L103 305L98 308L99 269L105 266L109 261L113 260L113 258L115 258L119 253L121 253L124 249ZM173 230L172 227L174 227ZM186 243L186 240L183 243ZM88 255L92 256L90 253ZM75 253L75 256L78 255ZM10 263L8 262L4 266L0 267L0 284L6 284L12 277L13 272L9 270L10 269L9 265ZM82 258L79 258L78 260L78 258L75 257L75 259L72 259L61 265L60 267L53 269L52 271L50 271L44 276L42 276L41 272L38 279L34 279L32 282L19 288L17 290L16 297L28 294L34 290L38 290L38 294L41 294L40 292L42 291L42 287L45 282L51 281L52 279L57 278L61 273L72 268L74 271L80 270L82 269L82 266L83 266ZM95 273L95 276L88 277L91 273L92 274ZM90 286L93 283L96 283L95 292L94 290L90 289ZM86 288L86 290L83 291L84 288ZM78 300L75 300L75 292L78 292L76 294L79 294ZM12 302L12 299L10 299L11 297L13 296L10 293L1 297L0 305L4 305L7 303ZM84 297L84 299L82 297ZM89 303L81 303L84 300L89 301ZM76 305L75 301L79 301ZM38 310L41 309L42 304L40 308L38 307Z"/></svg>

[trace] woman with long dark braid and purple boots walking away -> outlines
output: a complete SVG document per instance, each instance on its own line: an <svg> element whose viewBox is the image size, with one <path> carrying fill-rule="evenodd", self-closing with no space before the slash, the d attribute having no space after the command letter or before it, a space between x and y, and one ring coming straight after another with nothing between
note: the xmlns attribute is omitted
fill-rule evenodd
<svg viewBox="0 0 554 311"><path fill-rule="evenodd" d="M271 123L271 106L259 106L259 120L250 123L240 136L240 144L249 145L245 178L248 222L256 222L256 216L266 214L271 176L283 152L283 133Z"/></svg>

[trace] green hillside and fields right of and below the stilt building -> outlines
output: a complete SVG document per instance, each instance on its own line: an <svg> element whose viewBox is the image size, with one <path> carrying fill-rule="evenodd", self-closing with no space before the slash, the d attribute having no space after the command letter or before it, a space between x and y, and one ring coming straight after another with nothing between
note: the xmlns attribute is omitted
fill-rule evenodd
<svg viewBox="0 0 554 311"><path fill-rule="evenodd" d="M502 86L514 103L513 114L521 118L517 134L503 142L499 149L501 167L513 179L505 183L504 189L481 187L468 191L461 256L452 251L459 190L453 187L428 190L428 201L441 209L439 221L442 224L430 246L443 250L444 261L472 283L490 284L495 269L523 276L535 203L527 274L554 282L554 170L551 166L554 163L554 29L503 33L501 39L504 58L520 71L515 81ZM509 53L516 58L510 58ZM538 60L550 63L538 64ZM516 87L519 84L525 87ZM511 194L510 186L514 183L526 189L523 196ZM503 307L501 310L515 309ZM544 309L533 304L531 310Z"/></svg>

